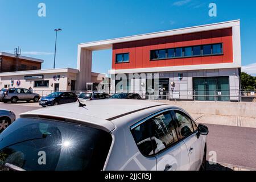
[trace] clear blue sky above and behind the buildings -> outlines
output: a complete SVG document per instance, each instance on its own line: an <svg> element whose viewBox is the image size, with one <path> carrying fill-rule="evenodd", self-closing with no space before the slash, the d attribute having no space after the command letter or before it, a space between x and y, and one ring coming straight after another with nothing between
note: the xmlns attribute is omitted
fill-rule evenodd
<svg viewBox="0 0 256 182"><path fill-rule="evenodd" d="M40 2L46 17L38 16ZM217 17L208 15L210 2L217 5ZM55 28L63 29L56 67L76 68L79 43L241 19L242 65L256 70L254 0L0 0L0 7L0 51L13 53L20 46L22 55L44 59L43 68L53 67ZM106 73L111 59L111 51L95 52L93 71Z"/></svg>

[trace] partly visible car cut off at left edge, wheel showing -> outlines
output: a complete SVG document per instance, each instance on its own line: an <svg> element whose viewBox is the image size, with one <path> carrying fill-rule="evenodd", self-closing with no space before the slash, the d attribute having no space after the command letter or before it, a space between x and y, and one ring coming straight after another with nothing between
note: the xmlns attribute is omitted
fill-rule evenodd
<svg viewBox="0 0 256 182"><path fill-rule="evenodd" d="M0 109L0 133L5 130L16 119L15 114L10 110Z"/></svg>

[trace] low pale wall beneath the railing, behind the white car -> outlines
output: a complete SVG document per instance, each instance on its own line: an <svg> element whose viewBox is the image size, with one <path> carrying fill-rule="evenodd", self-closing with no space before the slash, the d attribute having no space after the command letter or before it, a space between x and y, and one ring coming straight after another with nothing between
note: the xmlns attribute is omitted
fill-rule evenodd
<svg viewBox="0 0 256 182"><path fill-rule="evenodd" d="M256 118L256 102L157 101L179 106L188 113Z"/></svg>

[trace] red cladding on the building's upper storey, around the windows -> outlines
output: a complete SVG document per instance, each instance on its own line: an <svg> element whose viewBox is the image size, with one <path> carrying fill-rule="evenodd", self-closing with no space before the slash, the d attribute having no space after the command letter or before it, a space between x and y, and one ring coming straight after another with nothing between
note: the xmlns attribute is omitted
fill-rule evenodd
<svg viewBox="0 0 256 182"><path fill-rule="evenodd" d="M150 60L150 51L176 47L187 47L204 44L223 44L223 55L188 57L181 59ZM115 63L115 54L130 53L129 63ZM171 67L180 65L200 65L233 63L232 28L221 30L196 32L192 34L167 36L134 42L118 43L113 45L113 69L134 69L152 67Z"/></svg>

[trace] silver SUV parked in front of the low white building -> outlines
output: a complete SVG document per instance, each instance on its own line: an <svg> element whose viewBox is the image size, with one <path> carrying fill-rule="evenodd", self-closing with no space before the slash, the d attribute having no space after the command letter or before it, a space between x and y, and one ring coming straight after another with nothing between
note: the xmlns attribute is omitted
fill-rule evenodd
<svg viewBox="0 0 256 182"><path fill-rule="evenodd" d="M18 101L34 101L38 102L40 100L40 95L36 93L30 92L28 89L24 88L9 88L6 93L5 97L3 97L3 102L11 102L16 103Z"/></svg>

